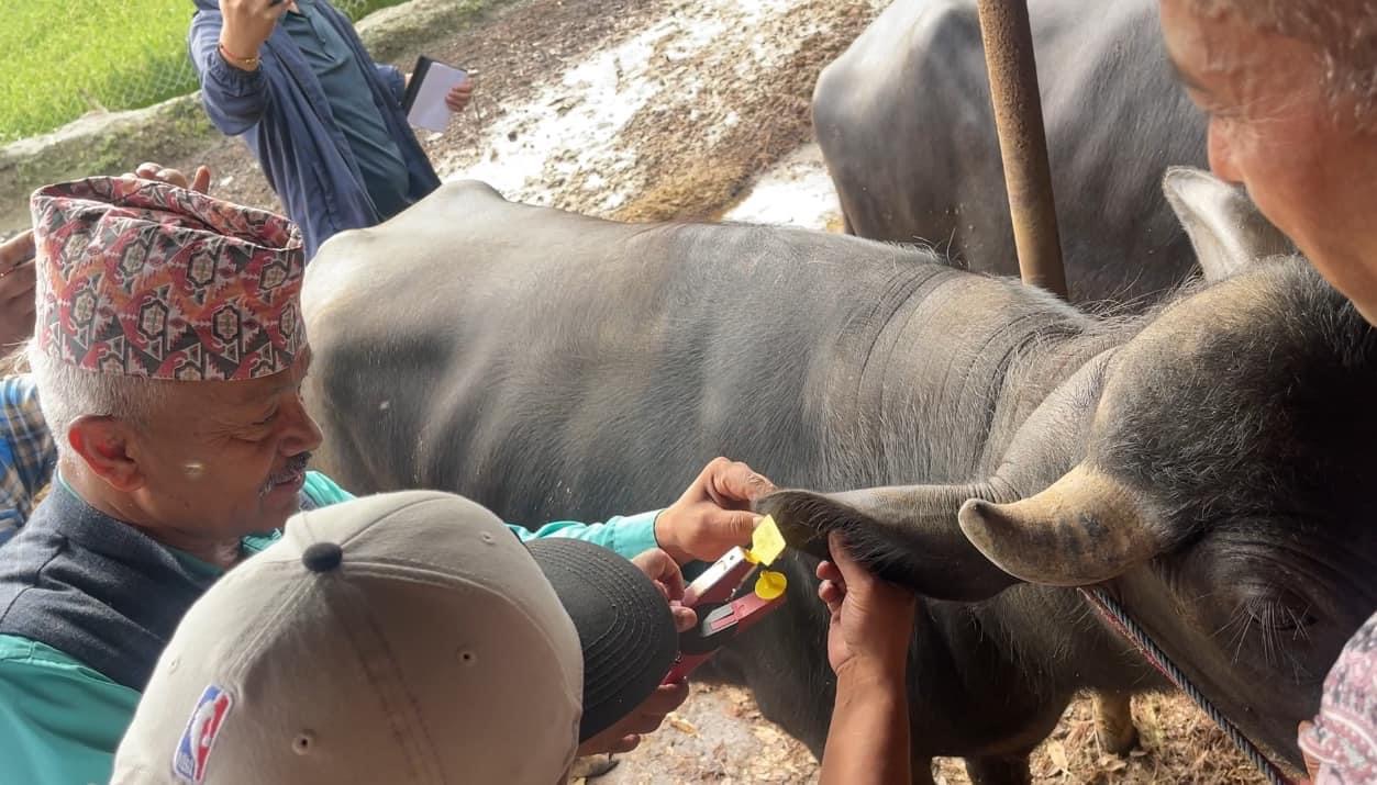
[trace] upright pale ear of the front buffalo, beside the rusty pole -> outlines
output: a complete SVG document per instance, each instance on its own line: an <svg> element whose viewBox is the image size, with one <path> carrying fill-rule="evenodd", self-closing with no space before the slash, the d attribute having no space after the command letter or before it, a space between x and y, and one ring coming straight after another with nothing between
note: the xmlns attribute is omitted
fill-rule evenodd
<svg viewBox="0 0 1377 785"><path fill-rule="evenodd" d="M1243 188L1209 172L1172 166L1162 177L1162 192L1191 238L1206 280L1223 280L1259 258L1296 253Z"/></svg>

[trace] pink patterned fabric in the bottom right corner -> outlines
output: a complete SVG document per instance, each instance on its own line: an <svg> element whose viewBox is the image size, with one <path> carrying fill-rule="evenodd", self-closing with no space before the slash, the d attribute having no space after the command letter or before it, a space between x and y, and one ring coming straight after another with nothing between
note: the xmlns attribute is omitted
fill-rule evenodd
<svg viewBox="0 0 1377 785"><path fill-rule="evenodd" d="M1330 668L1319 716L1300 748L1319 763L1316 785L1377 782L1377 613Z"/></svg>

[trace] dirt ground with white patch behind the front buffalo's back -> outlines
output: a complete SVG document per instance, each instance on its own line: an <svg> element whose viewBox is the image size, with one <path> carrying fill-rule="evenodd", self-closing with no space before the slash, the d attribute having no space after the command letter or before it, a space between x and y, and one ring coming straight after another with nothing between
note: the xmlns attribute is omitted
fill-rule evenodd
<svg viewBox="0 0 1377 785"><path fill-rule="evenodd" d="M534 0L416 54L476 71L474 103L423 144L446 180L622 220L720 214L807 143L818 71L879 12L826 0ZM226 140L218 194L277 205Z"/></svg>

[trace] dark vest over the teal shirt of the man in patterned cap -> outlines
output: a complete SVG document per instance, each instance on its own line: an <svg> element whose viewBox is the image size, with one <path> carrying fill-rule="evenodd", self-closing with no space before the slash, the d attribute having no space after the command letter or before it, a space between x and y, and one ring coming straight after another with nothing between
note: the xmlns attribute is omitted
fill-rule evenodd
<svg viewBox="0 0 1377 785"><path fill-rule="evenodd" d="M182 615L213 582L54 483L0 551L0 635L47 643L142 693Z"/></svg>

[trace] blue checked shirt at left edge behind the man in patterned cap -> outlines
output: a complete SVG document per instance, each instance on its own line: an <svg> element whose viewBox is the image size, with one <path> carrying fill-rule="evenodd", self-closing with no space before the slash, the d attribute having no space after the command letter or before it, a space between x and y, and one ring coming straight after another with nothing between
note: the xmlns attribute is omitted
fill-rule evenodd
<svg viewBox="0 0 1377 785"><path fill-rule="evenodd" d="M34 496L52 480L56 462L33 379L0 379L0 544L29 520Z"/></svg>

